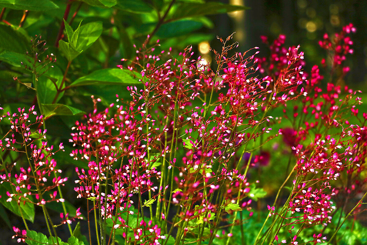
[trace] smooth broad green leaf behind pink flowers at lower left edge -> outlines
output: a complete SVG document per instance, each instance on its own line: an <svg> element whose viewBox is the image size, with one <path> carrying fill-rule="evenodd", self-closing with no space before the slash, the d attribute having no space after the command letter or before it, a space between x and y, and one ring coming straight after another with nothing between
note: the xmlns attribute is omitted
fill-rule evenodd
<svg viewBox="0 0 367 245"><path fill-rule="evenodd" d="M1 196L0 202L1 204L3 204L7 209L9 209L11 212L15 213L18 216L21 216L21 212L19 211L19 207L20 207L24 218L33 223L34 204L31 203L28 198L24 198L24 197L21 198L21 202L19 206L15 198L12 198L10 202L7 202L7 199L8 199L8 195L6 194L7 191L9 191L10 193L13 193L10 184L7 182L0 184L0 196ZM25 204L23 204L24 201L26 201Z"/></svg>

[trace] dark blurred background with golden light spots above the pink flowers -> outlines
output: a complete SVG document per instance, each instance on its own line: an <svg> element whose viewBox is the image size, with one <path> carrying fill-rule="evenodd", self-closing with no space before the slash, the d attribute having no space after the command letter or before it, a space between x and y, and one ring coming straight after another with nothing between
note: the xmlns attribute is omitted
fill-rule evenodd
<svg viewBox="0 0 367 245"><path fill-rule="evenodd" d="M239 42L239 51L246 51L259 46L261 56L268 53L266 46L261 45L261 35L269 37L271 43L279 34L287 36L286 46L301 45L305 52L306 70L312 65L320 65L326 51L321 49L318 41L324 33L340 32L342 26L353 23L357 32L351 35L355 50L348 55L346 65L351 72L345 83L354 88L367 91L367 1L360 0L222 0L223 3L243 5L250 9L212 15L214 35L227 37L236 32L234 39ZM209 53L208 45L220 48L216 39L199 44L199 51Z"/></svg>

